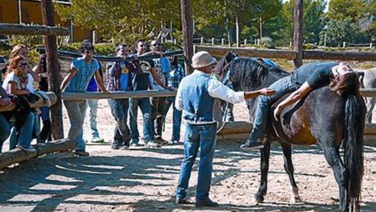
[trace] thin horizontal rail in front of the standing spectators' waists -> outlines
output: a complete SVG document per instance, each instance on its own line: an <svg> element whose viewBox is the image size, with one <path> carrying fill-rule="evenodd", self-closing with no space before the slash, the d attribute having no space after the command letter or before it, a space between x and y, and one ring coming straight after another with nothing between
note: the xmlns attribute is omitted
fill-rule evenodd
<svg viewBox="0 0 376 212"><path fill-rule="evenodd" d="M170 90L151 90L151 91L115 91L109 94L103 92L62 92L64 100L77 100L77 99L121 99L121 98L146 98L146 97L168 97L175 96L176 91Z"/></svg>

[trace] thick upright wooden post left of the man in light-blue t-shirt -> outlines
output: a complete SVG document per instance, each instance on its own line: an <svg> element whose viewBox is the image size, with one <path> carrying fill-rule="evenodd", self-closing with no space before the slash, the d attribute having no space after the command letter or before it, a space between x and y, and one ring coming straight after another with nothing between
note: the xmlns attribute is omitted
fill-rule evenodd
<svg viewBox="0 0 376 212"><path fill-rule="evenodd" d="M42 18L45 26L55 26L52 0L41 0ZM58 97L56 104L51 107L51 125L52 137L54 140L64 138L63 130L63 111L61 102L61 74L58 58L58 46L56 36L47 35L44 37L46 46L47 71L49 81L49 91L52 91Z"/></svg>

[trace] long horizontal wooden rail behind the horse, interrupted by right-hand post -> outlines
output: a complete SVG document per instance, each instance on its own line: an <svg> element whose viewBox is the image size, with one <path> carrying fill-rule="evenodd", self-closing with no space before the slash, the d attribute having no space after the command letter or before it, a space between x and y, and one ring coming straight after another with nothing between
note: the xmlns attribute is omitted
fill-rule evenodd
<svg viewBox="0 0 376 212"><path fill-rule="evenodd" d="M223 46L195 46L195 51L208 51L211 55L223 57L229 51L234 51L242 57L263 57L294 60L297 52L294 50L282 49L252 49L252 48L229 48ZM337 52L337 51L303 51L305 60L355 60L355 61L376 61L375 52Z"/></svg>

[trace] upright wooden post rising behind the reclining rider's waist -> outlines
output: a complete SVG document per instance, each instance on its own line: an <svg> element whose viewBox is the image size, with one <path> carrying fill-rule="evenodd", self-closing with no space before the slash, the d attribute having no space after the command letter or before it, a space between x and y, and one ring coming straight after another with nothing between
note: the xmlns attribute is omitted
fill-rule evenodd
<svg viewBox="0 0 376 212"><path fill-rule="evenodd" d="M294 68L303 65L303 0L294 3L294 50L297 52L294 59Z"/></svg>

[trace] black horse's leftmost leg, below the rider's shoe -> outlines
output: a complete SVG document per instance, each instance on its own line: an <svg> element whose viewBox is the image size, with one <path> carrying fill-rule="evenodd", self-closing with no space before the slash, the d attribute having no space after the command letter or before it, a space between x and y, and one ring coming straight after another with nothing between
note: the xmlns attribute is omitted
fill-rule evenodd
<svg viewBox="0 0 376 212"><path fill-rule="evenodd" d="M264 148L260 150L261 152L261 161L260 161L260 170L261 170L261 181L258 192L255 194L255 201L262 203L264 201L264 196L267 191L268 184L268 171L269 171L269 157L270 157L270 141L264 143Z"/></svg>

